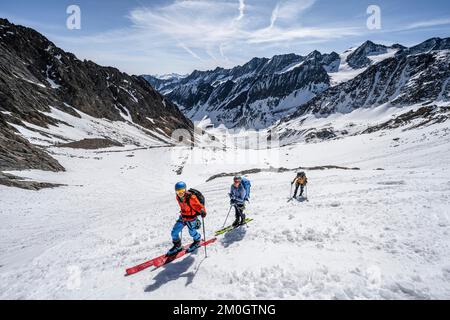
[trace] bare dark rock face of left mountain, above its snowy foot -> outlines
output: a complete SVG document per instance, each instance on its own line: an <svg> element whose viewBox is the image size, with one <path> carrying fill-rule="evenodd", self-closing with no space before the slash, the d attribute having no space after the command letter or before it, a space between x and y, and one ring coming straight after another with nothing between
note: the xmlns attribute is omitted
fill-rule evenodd
<svg viewBox="0 0 450 320"><path fill-rule="evenodd" d="M129 115L133 122L169 135L192 128L178 108L141 77L80 61L33 29L4 19L0 25L0 101L6 111L27 121L34 117L32 123L45 126L51 118L37 111L54 106L70 112L67 103L97 118L124 121L121 113Z"/></svg>

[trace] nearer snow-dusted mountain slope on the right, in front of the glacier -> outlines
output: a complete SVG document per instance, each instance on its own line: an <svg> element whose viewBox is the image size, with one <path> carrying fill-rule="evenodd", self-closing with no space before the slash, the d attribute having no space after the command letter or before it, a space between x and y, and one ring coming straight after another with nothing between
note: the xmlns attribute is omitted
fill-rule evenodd
<svg viewBox="0 0 450 320"><path fill-rule="evenodd" d="M273 131L293 142L446 121L450 117L449 44L448 39L432 39L391 53L353 79L299 106ZM395 114L372 126L373 117L389 115L388 110ZM351 114L358 115L359 125ZM346 123L336 121L340 115L346 115L341 117ZM324 119L321 126L318 119Z"/></svg>

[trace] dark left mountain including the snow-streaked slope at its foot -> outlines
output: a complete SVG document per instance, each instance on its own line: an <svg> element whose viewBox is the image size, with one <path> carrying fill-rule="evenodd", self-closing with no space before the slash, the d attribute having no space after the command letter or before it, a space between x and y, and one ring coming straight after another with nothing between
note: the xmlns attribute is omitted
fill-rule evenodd
<svg viewBox="0 0 450 320"><path fill-rule="evenodd" d="M193 128L141 77L80 61L6 19L0 19L0 79L0 170L63 170L35 145L102 137L133 143L129 134L118 133L123 125L155 143L170 142L175 129ZM81 128L75 128L78 120L84 121Z"/></svg>

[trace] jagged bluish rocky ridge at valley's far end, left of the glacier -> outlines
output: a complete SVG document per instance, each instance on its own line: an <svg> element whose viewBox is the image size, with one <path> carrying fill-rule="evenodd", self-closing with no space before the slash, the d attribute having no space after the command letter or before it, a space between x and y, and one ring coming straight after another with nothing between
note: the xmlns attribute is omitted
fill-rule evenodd
<svg viewBox="0 0 450 320"><path fill-rule="evenodd" d="M145 78L192 120L265 128L330 86L339 55L314 51L308 56L254 58L232 69L194 71L180 80Z"/></svg>

